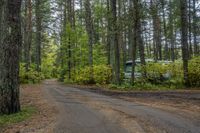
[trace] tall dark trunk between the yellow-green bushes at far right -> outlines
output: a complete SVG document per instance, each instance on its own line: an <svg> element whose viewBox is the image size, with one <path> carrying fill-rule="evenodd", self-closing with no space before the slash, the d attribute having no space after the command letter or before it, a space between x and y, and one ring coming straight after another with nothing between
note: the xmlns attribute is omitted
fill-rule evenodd
<svg viewBox="0 0 200 133"><path fill-rule="evenodd" d="M188 81L188 14L187 0L180 0L181 3L181 43L185 85L189 86Z"/></svg>

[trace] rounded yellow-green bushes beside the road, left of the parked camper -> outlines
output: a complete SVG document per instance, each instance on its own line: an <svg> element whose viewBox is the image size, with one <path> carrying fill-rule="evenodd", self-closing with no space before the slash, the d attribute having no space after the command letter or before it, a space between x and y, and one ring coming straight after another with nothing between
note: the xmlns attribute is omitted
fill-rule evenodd
<svg viewBox="0 0 200 133"><path fill-rule="evenodd" d="M73 73L73 79L75 83L89 84L90 83L90 67L81 68L76 73ZM69 83L67 75L65 76L65 82ZM112 79L112 69L110 66L97 65L93 67L93 78L96 84L109 84Z"/></svg>

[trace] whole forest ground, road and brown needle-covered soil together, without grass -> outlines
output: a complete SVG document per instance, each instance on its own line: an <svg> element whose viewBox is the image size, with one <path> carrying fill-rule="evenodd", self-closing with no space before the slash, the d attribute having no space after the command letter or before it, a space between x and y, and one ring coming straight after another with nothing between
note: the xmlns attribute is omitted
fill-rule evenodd
<svg viewBox="0 0 200 133"><path fill-rule="evenodd" d="M122 92L55 80L22 87L32 119L6 133L200 133L200 91Z"/></svg>

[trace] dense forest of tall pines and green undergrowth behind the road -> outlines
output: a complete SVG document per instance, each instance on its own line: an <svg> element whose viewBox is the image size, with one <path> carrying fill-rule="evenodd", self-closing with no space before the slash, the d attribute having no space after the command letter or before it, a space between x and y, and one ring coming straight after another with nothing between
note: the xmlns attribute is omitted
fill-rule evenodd
<svg viewBox="0 0 200 133"><path fill-rule="evenodd" d="M139 58L143 66L145 59L168 60L178 67L183 59L175 75L189 85L188 61L200 53L199 5L198 0L23 1L22 80L120 84L128 60ZM163 72L156 63L152 68Z"/></svg>

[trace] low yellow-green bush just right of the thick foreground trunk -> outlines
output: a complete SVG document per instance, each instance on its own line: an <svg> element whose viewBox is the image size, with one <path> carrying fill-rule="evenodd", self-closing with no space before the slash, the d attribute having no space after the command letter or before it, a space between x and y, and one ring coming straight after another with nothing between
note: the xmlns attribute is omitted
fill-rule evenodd
<svg viewBox="0 0 200 133"><path fill-rule="evenodd" d="M32 64L29 68L29 71L26 72L25 64L20 64L20 83L27 84L27 83L39 83L41 80L44 79L44 76L41 72L35 71L35 66Z"/></svg>

